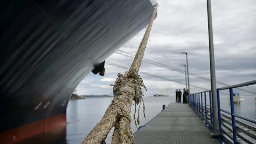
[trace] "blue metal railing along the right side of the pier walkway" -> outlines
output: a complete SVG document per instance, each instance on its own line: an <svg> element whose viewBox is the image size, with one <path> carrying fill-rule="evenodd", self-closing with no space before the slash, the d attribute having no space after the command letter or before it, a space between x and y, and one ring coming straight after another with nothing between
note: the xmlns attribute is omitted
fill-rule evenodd
<svg viewBox="0 0 256 144"><path fill-rule="evenodd" d="M242 140L244 140L244 142L246 142L246 143L252 143L252 141L248 140L248 138L245 138L244 136L237 133L237 130L239 132L243 132L248 137L256 140L256 128L249 124L245 124L239 120L236 120L236 117L243 119L245 121L254 123L254 124L256 124L256 120L235 114L234 99L233 99L233 88L239 88L239 87L244 87L244 86L249 86L249 85L254 85L254 84L256 84L256 80L245 82L242 84L226 86L226 87L217 89L218 123L219 123L219 133L221 135L221 137L219 137L219 140L221 143L222 143L222 140L223 141L225 140L225 143L234 143L234 144L243 143L243 142L241 142ZM227 89L229 89L231 112L228 112L228 111L220 108L220 90L227 90ZM206 93L208 93L208 92L209 92L209 104L207 103L207 100L206 100ZM203 94L204 94L204 101L203 101ZM213 120L212 120L211 91L193 93L193 94L190 94L188 97L189 97L188 104L190 104L190 106L194 109L194 111L203 119L203 121L206 123L206 125L213 132L214 128L213 128ZM223 115L223 113L221 113L221 112L229 114L229 115L231 115L231 117L229 117L227 115ZM243 125L244 127L246 127L246 129L244 129L244 127L241 128L241 126L237 126L236 123L238 123L239 125ZM229 124L230 126L232 126L232 129L230 127L228 127L226 124ZM225 130L223 130L223 129L225 129ZM230 132L227 132L228 130ZM224 134L226 134L230 139L232 139L233 142L231 142L227 138L223 137L222 132ZM237 136L239 137L240 141L237 140L238 139Z"/></svg>

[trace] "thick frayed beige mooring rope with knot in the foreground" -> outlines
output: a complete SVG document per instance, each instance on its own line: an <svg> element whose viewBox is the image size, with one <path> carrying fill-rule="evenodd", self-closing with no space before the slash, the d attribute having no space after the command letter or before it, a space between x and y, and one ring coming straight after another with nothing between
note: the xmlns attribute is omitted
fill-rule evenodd
<svg viewBox="0 0 256 144"><path fill-rule="evenodd" d="M142 78L138 75L143 54L147 45L149 33L152 27L153 20L156 15L156 8L152 14L152 17L149 21L148 28L145 32L145 35L140 43L139 49L135 55L135 58L132 62L132 66L129 71L126 71L124 75L118 73L118 78L115 81L115 84L112 84L114 99L111 101L111 104L107 108L104 116L101 121L93 128L93 130L87 135L82 144L99 144L102 140L105 142L105 138L115 126L112 144L135 144L133 140L132 130L131 130L131 106L132 101L135 102L135 113L134 121L136 124L136 108L139 105L138 109L138 118L137 123L140 124L139 112L141 101L143 103L143 114L145 115L145 105L142 98L143 92L142 87L147 91ZM137 124L136 124L137 126Z"/></svg>

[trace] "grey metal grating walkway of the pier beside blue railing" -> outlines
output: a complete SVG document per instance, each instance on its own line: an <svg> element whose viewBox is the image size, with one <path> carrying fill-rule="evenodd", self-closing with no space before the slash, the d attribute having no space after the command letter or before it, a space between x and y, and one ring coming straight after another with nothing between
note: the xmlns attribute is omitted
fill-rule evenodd
<svg viewBox="0 0 256 144"><path fill-rule="evenodd" d="M136 144L220 144L188 104L172 103L134 133Z"/></svg>

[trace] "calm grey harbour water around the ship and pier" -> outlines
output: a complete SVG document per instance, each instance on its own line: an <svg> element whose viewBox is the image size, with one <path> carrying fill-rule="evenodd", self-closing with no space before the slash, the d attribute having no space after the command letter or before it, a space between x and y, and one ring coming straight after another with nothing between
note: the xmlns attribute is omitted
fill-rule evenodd
<svg viewBox="0 0 256 144"><path fill-rule="evenodd" d="M254 97L243 97L245 100L240 104L235 104L235 113L241 116L256 119L256 108ZM81 144L86 135L93 129L104 115L112 98L88 98L84 100L71 100L67 108L67 122L68 125L59 127L57 129L38 134L29 139L22 140L16 144ZM204 96L203 96L204 100ZM209 96L206 97L209 104ZM156 116L161 110L162 105L168 106L175 101L175 97L145 97L145 113L147 120L143 118L143 107L140 108L140 121L145 124L151 118ZM220 97L221 109L230 112L230 103L228 96ZM132 106L131 115L134 113L134 106ZM138 107L137 107L138 108ZM137 116L136 116L137 117ZM237 120L246 122L236 117ZM256 124L247 124L255 126ZM132 132L137 130L132 118ZM111 143L112 131L109 133L106 140Z"/></svg>

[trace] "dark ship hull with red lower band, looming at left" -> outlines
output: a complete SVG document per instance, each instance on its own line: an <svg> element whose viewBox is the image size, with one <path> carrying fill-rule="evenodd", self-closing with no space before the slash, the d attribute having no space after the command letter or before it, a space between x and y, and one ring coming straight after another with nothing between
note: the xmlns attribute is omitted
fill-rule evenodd
<svg viewBox="0 0 256 144"><path fill-rule="evenodd" d="M0 10L0 141L13 143L65 124L76 85L145 28L154 8L149 0L4 0Z"/></svg>

